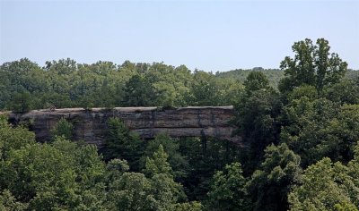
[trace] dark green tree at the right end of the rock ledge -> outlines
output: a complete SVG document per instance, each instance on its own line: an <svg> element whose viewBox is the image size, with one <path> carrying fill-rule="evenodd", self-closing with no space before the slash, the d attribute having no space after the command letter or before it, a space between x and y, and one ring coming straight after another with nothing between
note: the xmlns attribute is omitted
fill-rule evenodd
<svg viewBox="0 0 359 211"><path fill-rule="evenodd" d="M278 142L280 124L277 119L281 107L280 97L273 89L251 91L234 105L236 114L232 122L238 127L235 132L249 146L248 156L242 163L244 172L252 173L263 156L264 148Z"/></svg>

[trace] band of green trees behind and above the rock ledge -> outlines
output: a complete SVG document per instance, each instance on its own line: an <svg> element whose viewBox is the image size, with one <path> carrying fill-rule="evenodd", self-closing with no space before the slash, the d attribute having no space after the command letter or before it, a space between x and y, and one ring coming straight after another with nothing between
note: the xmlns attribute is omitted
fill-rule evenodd
<svg viewBox="0 0 359 211"><path fill-rule="evenodd" d="M0 66L0 109L27 112L62 107L232 105L242 88L185 65L47 62L24 58Z"/></svg>

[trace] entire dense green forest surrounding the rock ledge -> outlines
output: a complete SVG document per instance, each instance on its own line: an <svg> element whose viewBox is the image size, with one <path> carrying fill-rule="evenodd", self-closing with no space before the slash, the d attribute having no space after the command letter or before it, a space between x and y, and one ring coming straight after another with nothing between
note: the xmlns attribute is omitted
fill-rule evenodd
<svg viewBox="0 0 359 211"><path fill-rule="evenodd" d="M159 134L120 119L106 143L57 122L35 141L0 115L0 210L358 210L359 72L328 40L292 46L278 70L191 72L185 65L46 62L0 66L0 109L234 105L245 145Z"/></svg>

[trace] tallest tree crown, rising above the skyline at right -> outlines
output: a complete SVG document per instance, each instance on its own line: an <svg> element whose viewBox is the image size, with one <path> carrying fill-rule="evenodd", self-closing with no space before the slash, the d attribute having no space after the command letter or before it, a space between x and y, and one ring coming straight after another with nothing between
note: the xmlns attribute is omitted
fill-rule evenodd
<svg viewBox="0 0 359 211"><path fill-rule="evenodd" d="M346 73L347 63L337 54L329 53L330 46L324 38L318 38L316 45L306 38L295 42L292 49L294 58L286 56L280 64L287 76L279 84L282 93L302 84L314 86L321 92L325 86L339 82Z"/></svg>

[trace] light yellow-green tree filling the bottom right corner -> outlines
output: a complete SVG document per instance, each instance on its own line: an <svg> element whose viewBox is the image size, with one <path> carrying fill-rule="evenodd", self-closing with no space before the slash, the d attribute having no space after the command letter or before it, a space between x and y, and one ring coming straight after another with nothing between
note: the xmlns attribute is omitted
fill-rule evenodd
<svg viewBox="0 0 359 211"><path fill-rule="evenodd" d="M291 210L340 210L359 207L358 174L353 178L341 163L324 157L302 174L302 185L289 194Z"/></svg>

